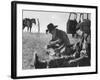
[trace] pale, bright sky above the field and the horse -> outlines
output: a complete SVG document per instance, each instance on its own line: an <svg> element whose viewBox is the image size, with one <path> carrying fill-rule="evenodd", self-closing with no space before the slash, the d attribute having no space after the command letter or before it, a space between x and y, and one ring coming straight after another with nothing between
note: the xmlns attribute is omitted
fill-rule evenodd
<svg viewBox="0 0 100 80"><path fill-rule="evenodd" d="M23 19L24 18L35 18L39 19L40 22L40 32L45 33L47 29L47 25L49 23L53 23L54 25L58 25L58 29L66 31L67 21L69 18L69 12L47 12L47 11L32 11L32 10L24 10L23 11ZM77 13L77 21L79 21L79 13ZM74 19L75 15L71 15L71 19ZM38 25L32 26L32 32L38 32Z"/></svg>

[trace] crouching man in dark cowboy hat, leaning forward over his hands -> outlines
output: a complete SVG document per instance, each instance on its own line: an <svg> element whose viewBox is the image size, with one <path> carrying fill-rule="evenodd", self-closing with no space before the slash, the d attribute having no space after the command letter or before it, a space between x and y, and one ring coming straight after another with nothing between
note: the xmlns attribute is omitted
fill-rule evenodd
<svg viewBox="0 0 100 80"><path fill-rule="evenodd" d="M52 40L50 41L48 48L52 47L58 49L63 55L70 55L70 41L66 32L57 29L57 25L50 23L47 25L46 33L52 35Z"/></svg>

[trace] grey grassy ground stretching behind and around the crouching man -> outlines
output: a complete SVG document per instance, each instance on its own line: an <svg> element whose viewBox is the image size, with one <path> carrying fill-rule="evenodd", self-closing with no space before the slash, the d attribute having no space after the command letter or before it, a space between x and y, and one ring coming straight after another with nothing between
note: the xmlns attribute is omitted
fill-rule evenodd
<svg viewBox="0 0 100 80"><path fill-rule="evenodd" d="M76 42L75 39L68 35L70 42ZM50 35L44 33L22 33L22 69L34 69L34 52L37 52L40 58L47 58L45 46L51 39Z"/></svg>

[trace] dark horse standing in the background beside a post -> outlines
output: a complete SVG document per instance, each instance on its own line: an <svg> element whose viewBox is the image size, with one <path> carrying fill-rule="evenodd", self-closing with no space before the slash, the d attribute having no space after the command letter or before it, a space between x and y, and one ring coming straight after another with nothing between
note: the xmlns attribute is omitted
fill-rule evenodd
<svg viewBox="0 0 100 80"><path fill-rule="evenodd" d="M29 19L29 18L23 19L23 30L24 30L25 27L27 27L27 31L31 32L32 23L34 23L36 25L36 19L34 19L34 18L32 18L32 19Z"/></svg>

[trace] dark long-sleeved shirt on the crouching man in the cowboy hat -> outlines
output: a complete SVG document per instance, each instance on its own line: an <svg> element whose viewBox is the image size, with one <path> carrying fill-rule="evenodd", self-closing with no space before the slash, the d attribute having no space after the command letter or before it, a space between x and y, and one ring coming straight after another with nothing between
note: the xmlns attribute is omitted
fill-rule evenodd
<svg viewBox="0 0 100 80"><path fill-rule="evenodd" d="M58 44L60 46L63 45L63 48L65 48L65 51L64 51L63 54L69 55L70 54L70 47L69 47L70 41L69 41L69 38L67 36L67 33L62 31L62 30L56 29L55 33L52 34L52 40L51 41L56 41L56 40L59 40Z"/></svg>

